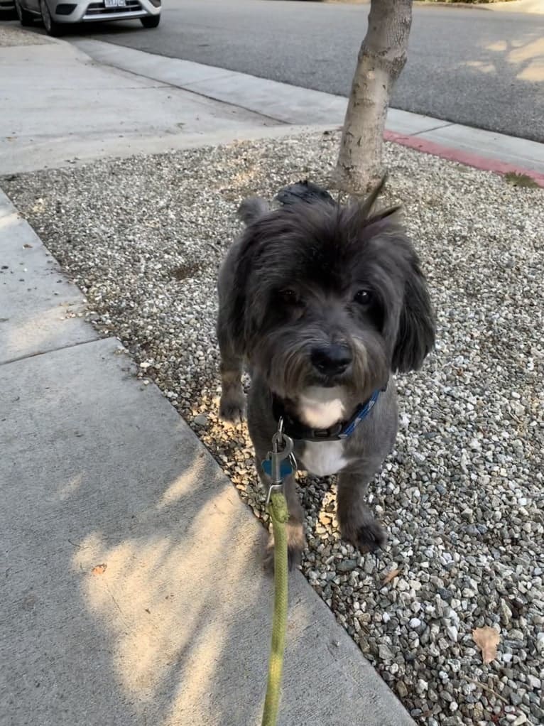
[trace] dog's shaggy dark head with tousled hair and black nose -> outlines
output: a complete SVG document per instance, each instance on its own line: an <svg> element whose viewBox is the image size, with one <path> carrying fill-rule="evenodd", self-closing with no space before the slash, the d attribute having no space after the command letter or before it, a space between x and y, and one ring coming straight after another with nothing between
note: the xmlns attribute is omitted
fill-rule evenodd
<svg viewBox="0 0 544 726"><path fill-rule="evenodd" d="M271 390L342 386L363 400L434 343L424 277L395 210L247 206L234 274L236 338ZM252 213L250 213L252 212Z"/></svg>

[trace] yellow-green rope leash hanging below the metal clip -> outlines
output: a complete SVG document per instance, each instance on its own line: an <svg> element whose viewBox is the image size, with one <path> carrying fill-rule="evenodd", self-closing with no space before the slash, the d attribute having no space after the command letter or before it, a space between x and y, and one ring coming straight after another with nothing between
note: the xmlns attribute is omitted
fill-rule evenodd
<svg viewBox="0 0 544 726"><path fill-rule="evenodd" d="M262 726L275 726L278 717L281 672L284 667L285 629L287 626L287 532L289 510L283 492L273 492L270 513L274 534L274 614L272 644L268 661L268 683Z"/></svg>

